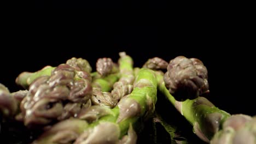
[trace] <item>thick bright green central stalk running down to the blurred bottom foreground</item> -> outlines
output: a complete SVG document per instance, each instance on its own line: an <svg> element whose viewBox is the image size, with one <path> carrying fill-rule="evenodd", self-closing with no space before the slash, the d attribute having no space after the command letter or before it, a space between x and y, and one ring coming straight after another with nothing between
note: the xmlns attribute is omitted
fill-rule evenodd
<svg viewBox="0 0 256 144"><path fill-rule="evenodd" d="M134 125L139 119L143 119L154 112L156 103L157 81L154 71L141 69L136 77L134 88L131 94L120 100L113 109L101 107L105 111L105 116L89 124L84 128L83 134L69 129L72 133L80 134L79 136L68 136L59 131L55 133L46 131L38 140L33 143L136 143L136 133L133 130ZM86 115L86 113L85 113ZM95 114L97 115L97 114ZM83 117L80 115L79 117ZM68 121L68 120L66 120ZM66 123L62 121L59 123ZM83 121L83 120L79 120ZM72 123L71 125L73 125ZM53 126L55 127L55 126ZM70 133L71 133L70 132ZM127 135L126 135L127 134ZM62 135L62 136L60 136ZM56 141L56 137L61 140L65 137L69 141Z"/></svg>

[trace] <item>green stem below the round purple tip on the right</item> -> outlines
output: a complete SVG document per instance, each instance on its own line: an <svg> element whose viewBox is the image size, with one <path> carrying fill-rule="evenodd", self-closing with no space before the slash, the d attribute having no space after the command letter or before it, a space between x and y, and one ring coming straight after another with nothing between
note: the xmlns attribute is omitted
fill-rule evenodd
<svg viewBox="0 0 256 144"><path fill-rule="evenodd" d="M218 109L209 100L203 97L185 101L176 101L165 87L163 73L156 72L158 77L158 89L162 92L173 106L193 125L194 133L200 139L210 142L213 135L222 128L222 124L229 113Z"/></svg>

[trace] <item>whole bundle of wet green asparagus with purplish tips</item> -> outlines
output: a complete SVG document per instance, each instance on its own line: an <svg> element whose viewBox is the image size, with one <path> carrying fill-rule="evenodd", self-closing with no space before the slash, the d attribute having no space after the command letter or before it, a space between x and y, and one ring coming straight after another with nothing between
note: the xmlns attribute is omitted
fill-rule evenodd
<svg viewBox="0 0 256 144"><path fill-rule="evenodd" d="M73 57L57 67L21 73L16 83L25 90L14 93L0 84L2 119L42 131L33 137L34 144L136 143L145 122L163 125L172 143L186 142L174 133L176 125L155 112L159 91L201 140L256 142L255 117L230 115L202 97L210 91L207 69L199 59L179 56L167 63L154 57L142 68L133 68L130 56L119 56L118 63L99 58L95 72L86 59Z"/></svg>

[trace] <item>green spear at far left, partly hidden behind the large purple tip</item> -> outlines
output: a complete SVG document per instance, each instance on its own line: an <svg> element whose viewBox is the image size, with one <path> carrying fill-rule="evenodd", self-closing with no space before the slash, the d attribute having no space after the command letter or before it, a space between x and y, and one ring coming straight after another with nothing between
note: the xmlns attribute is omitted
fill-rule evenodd
<svg viewBox="0 0 256 144"><path fill-rule="evenodd" d="M91 65L88 61L86 61L86 59L73 57L71 59L68 59L66 64L70 65L75 70L83 70L87 73L91 73ZM40 76L50 76L51 71L53 71L55 68L56 67L51 67L50 65L48 65L34 73L25 71L16 78L16 83L22 86L23 88L28 89L28 87L35 79L37 79Z"/></svg>

